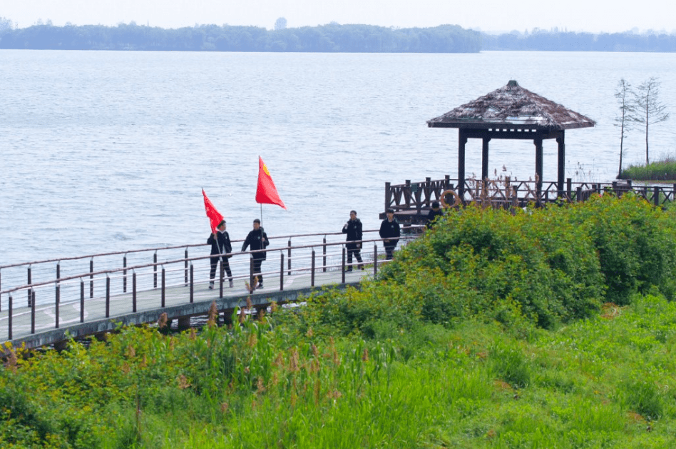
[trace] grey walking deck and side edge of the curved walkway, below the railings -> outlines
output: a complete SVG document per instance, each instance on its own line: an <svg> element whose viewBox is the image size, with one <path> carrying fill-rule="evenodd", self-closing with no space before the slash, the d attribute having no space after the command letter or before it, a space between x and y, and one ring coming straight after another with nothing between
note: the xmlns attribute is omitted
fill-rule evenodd
<svg viewBox="0 0 676 449"><path fill-rule="evenodd" d="M162 313L167 313L169 319L178 320L191 316L200 316L208 313L212 302L216 302L219 311L229 318L232 311L247 306L250 298L254 308L267 308L273 301L286 303L296 301L299 296L308 295L312 291L319 291L324 286L357 286L359 281L368 276L367 271L353 271L345 273L346 280L342 283L340 271L319 273L315 277L314 287L310 285L310 274L286 276L283 281L283 290L280 290L280 276L266 279L270 288L263 288L250 294L245 281L235 283L234 288L223 288L223 296L219 288L208 288L209 283L197 283L193 286L193 302L190 303L190 286L173 286L165 289L165 304L162 303L160 289L140 291L136 294L136 312L133 312L133 294L111 296L106 305L106 298L91 298L81 308L80 301L59 303L58 328L56 328L56 306L36 305L14 309L12 314L13 345L26 343L28 347L48 345L68 339L69 336L78 338L96 333L112 331L120 324L124 326L158 321ZM372 273L370 273L372 274ZM227 285L227 281L226 281ZM108 308L108 318L106 318ZM33 319L33 315L35 318ZM83 322L81 322L81 316ZM0 312L0 329L5 333L9 328L9 310Z"/></svg>

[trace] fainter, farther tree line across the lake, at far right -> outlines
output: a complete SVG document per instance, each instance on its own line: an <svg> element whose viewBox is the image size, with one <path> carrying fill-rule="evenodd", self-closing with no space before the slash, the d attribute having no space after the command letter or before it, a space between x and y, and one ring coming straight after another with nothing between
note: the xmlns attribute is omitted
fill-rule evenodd
<svg viewBox="0 0 676 449"><path fill-rule="evenodd" d="M676 34L650 31L637 34L624 33L573 33L552 29L533 29L521 33L483 34L482 50L527 51L676 51Z"/></svg>

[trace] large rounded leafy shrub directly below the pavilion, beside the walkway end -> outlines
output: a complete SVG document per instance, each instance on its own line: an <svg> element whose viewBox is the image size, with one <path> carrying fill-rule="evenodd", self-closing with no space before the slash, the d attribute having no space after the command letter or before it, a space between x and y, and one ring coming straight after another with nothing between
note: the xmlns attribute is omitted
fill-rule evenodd
<svg viewBox="0 0 676 449"><path fill-rule="evenodd" d="M496 306L507 301L553 328L589 316L603 298L592 242L562 208L450 213L385 266L381 278L422 293L423 316L439 313L446 321L476 314L503 320L505 309Z"/></svg>

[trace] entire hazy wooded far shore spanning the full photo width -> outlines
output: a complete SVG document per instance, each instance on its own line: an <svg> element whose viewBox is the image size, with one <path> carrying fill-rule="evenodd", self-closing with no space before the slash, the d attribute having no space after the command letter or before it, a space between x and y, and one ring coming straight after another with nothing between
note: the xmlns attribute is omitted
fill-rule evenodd
<svg viewBox="0 0 676 449"><path fill-rule="evenodd" d="M267 30L197 25L163 29L130 24L14 28L0 18L0 49L241 51L300 53L478 53L480 51L676 52L676 34L587 33L533 29L489 34L457 25L406 28L339 25Z"/></svg>

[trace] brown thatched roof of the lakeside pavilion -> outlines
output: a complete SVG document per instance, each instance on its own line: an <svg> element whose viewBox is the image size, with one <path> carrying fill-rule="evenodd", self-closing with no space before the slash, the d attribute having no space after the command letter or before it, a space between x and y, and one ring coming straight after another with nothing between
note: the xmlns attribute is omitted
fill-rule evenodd
<svg viewBox="0 0 676 449"><path fill-rule="evenodd" d="M558 130L594 125L591 118L533 94L513 80L490 94L427 121L430 128L516 126Z"/></svg>

